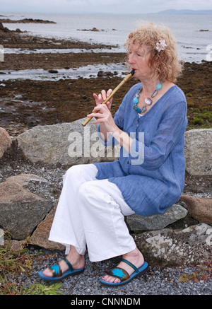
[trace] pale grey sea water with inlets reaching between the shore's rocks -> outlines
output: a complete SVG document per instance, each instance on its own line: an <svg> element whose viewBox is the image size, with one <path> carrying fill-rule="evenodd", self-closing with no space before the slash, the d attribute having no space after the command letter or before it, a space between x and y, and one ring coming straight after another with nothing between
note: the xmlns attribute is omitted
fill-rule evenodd
<svg viewBox="0 0 212 309"><path fill-rule="evenodd" d="M201 62L202 60L211 60L212 49L212 18L211 16L196 15L157 15L157 14L106 14L106 13L14 13L0 12L1 18L10 18L19 20L23 18L42 19L44 21L54 21L55 23L4 23L4 26L10 30L19 28L22 31L28 31L30 35L40 37L80 40L92 44L112 45L113 49L93 49L95 52L125 52L124 43L126 38L140 23L153 22L165 25L170 28L177 41L179 55L184 62ZM99 31L90 31L97 28ZM204 30L204 31L200 31ZM1 42L0 42L1 44ZM83 49L76 50L85 52ZM27 52L73 52L70 49L5 49L4 53L27 53ZM87 51L88 52L88 51ZM212 57L211 57L212 58ZM81 76L89 76L89 71L96 71L99 66L93 66L87 70L84 67ZM105 68L101 68L105 69ZM107 69L107 68L106 68ZM120 67L122 72L124 67ZM17 75L18 72L14 72ZM32 76L35 79L51 79L47 72L28 70L23 72L23 76ZM74 72L61 71L61 75L74 78ZM64 75L65 74L65 75ZM4 76L3 76L4 75ZM21 74L20 74L21 75ZM42 77L41 77L42 76ZM59 76L57 76L58 78ZM60 76L61 77L61 76ZM13 77L13 72L2 74L0 80Z"/></svg>

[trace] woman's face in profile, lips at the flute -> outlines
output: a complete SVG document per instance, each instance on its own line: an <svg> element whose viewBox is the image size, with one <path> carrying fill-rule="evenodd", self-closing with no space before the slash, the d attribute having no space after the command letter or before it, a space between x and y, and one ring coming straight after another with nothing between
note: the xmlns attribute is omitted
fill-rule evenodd
<svg viewBox="0 0 212 309"><path fill-rule="evenodd" d="M151 69L148 66L148 59L150 52L147 46L139 46L132 44L129 49L129 64L131 69L134 69L134 77L139 78L141 81L148 79L151 74Z"/></svg>

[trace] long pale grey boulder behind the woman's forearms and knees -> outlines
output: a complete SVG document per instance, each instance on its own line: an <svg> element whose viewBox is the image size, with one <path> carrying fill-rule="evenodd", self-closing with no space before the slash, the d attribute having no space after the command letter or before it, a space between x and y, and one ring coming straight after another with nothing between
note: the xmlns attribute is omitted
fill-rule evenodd
<svg viewBox="0 0 212 309"><path fill-rule="evenodd" d="M114 161L114 156L105 155L105 146L97 138L98 126L83 127L85 120L33 127L17 137L18 148L33 163L71 166Z"/></svg>

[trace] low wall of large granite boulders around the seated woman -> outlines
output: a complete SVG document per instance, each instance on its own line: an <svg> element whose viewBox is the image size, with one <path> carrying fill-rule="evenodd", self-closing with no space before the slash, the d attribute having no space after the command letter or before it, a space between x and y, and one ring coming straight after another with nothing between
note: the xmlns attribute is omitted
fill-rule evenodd
<svg viewBox="0 0 212 309"><path fill-rule="evenodd" d="M105 152L96 137L97 126L83 127L84 120L34 127L16 138L18 148L29 161L40 164L71 166L116 159L118 150L110 148ZM211 176L211 134L212 129L186 132L184 154L190 175ZM0 159L9 148L11 138L0 128ZM33 245L64 250L63 245L48 240L57 203L52 204L51 199L26 190L25 185L32 181L47 183L45 178L32 174L8 177L0 183L1 231L9 231L14 241L23 242L30 237L29 242ZM171 228L173 223L188 217L192 218L188 228ZM126 224L143 255L148 256L152 264L201 264L211 258L211 198L182 194L180 201L165 214L128 216Z"/></svg>

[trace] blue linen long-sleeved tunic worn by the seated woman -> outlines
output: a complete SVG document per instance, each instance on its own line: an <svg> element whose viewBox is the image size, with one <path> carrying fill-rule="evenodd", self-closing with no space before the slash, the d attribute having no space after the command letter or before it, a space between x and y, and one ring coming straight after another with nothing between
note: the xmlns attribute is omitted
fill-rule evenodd
<svg viewBox="0 0 212 309"><path fill-rule="evenodd" d="M94 164L98 168L98 180L108 179L117 185L124 201L136 214L151 216L163 214L175 204L184 188L187 102L175 85L139 117L133 109L133 99L140 86L137 83L126 93L114 115L114 122L122 131L129 136L134 132L130 153L126 156L121 147L119 160ZM139 138L139 132L143 132L144 140ZM111 136L105 146L112 139Z"/></svg>

